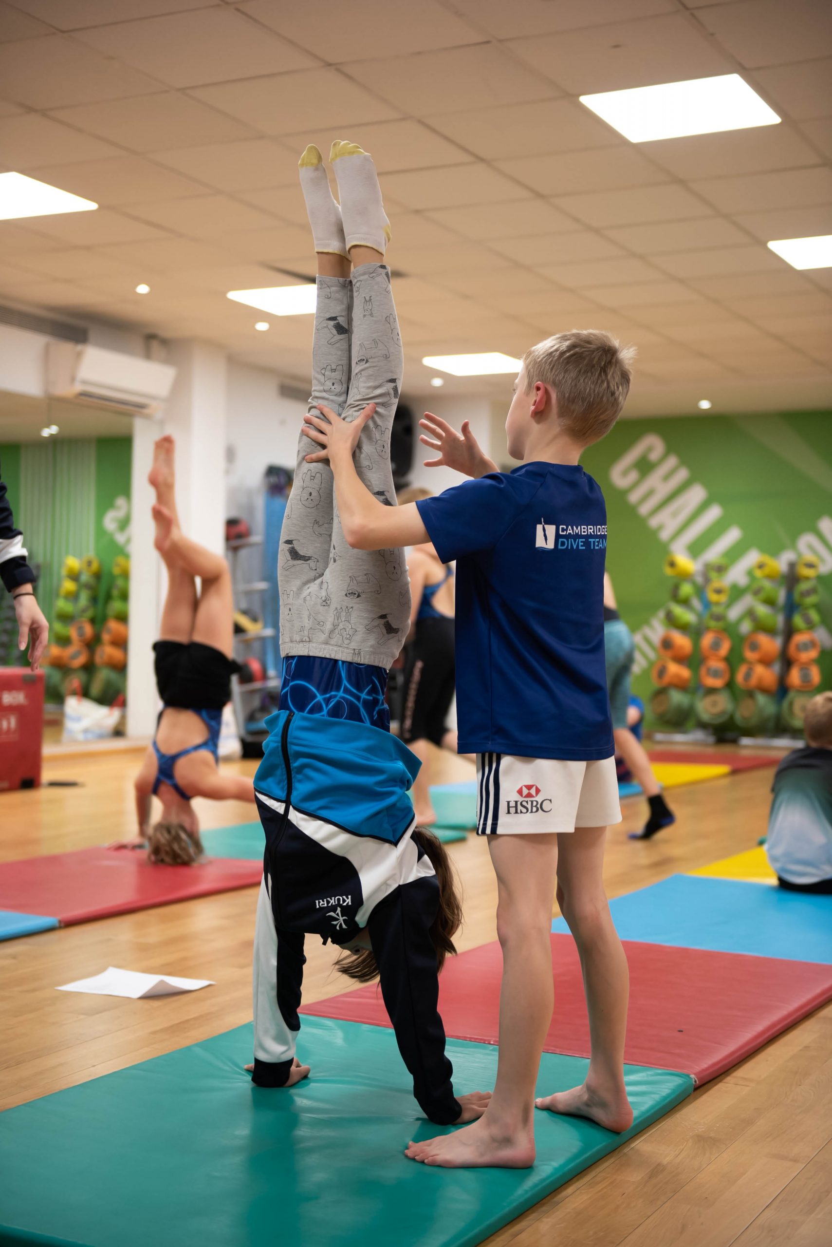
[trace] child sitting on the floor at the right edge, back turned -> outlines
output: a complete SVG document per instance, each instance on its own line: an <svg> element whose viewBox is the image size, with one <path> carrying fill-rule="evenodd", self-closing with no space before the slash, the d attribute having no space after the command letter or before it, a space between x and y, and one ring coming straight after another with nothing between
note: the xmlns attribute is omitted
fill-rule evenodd
<svg viewBox="0 0 832 1247"><path fill-rule="evenodd" d="M803 731L775 772L766 853L781 888L832 895L832 692L812 697Z"/></svg>

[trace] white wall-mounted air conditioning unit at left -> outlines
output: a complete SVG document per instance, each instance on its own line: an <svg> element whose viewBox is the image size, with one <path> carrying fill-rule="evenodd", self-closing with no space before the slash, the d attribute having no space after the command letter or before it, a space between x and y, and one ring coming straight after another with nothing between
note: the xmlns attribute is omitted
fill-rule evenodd
<svg viewBox="0 0 832 1247"><path fill-rule="evenodd" d="M46 343L46 392L50 398L106 407L125 415L153 418L171 393L176 368L120 350Z"/></svg>

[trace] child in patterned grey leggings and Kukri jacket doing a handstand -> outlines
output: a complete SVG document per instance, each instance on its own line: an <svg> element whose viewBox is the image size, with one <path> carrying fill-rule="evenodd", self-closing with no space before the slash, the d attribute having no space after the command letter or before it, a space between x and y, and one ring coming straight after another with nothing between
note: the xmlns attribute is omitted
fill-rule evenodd
<svg viewBox="0 0 832 1247"><path fill-rule="evenodd" d="M330 158L340 206L318 148L300 158L319 274L309 404L328 402L347 421L369 416L355 466L361 488L395 511L390 431L402 349L384 263L389 222L371 157L335 142ZM468 1122L488 1096L455 1096L437 1010L460 902L445 845L416 826L407 791L418 759L390 734L385 705L410 625L404 554L396 542L379 552L349 547L331 469L306 463L315 449L301 425L280 534L280 703L265 721L270 734L254 777L265 857L249 1069L269 1087L309 1074L295 1042L304 938L316 934L344 950L338 964L350 978L380 978L426 1116Z"/></svg>

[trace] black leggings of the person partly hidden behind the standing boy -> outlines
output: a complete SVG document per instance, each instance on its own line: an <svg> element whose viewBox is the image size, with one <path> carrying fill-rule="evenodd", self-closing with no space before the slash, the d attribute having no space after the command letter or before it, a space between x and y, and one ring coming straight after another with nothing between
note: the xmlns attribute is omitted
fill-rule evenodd
<svg viewBox="0 0 832 1247"><path fill-rule="evenodd" d="M453 620L427 619L416 622L416 637L405 658L405 706L401 738L431 741L441 746L456 687Z"/></svg>

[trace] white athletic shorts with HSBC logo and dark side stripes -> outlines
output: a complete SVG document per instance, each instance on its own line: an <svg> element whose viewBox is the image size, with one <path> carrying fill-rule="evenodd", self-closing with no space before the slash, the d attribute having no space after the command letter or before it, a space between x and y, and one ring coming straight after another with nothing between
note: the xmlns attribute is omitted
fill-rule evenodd
<svg viewBox="0 0 832 1247"><path fill-rule="evenodd" d="M477 835L574 832L620 821L615 758L477 754Z"/></svg>

